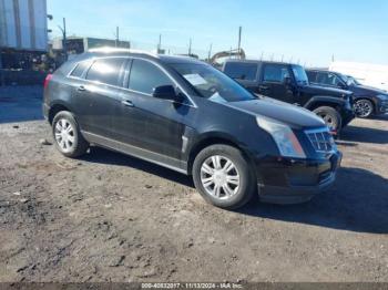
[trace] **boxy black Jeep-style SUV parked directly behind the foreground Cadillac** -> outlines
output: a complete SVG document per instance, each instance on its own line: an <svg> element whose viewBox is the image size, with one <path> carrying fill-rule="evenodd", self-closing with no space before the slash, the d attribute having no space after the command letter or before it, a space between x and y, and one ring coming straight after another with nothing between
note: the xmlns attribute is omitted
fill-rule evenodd
<svg viewBox="0 0 388 290"><path fill-rule="evenodd" d="M335 134L339 134L355 117L351 92L310 85L300 65L227 60L222 70L255 94L313 111L325 120Z"/></svg>

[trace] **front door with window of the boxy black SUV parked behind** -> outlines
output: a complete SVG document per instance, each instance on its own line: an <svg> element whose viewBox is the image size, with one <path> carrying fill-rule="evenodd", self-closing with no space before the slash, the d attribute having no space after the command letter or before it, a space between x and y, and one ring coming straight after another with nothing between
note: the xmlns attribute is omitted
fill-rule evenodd
<svg viewBox="0 0 388 290"><path fill-rule="evenodd" d="M287 86L284 83L285 77L292 77L288 65L265 63L262 70L262 82L258 86L259 93L293 104L295 97L292 86Z"/></svg>

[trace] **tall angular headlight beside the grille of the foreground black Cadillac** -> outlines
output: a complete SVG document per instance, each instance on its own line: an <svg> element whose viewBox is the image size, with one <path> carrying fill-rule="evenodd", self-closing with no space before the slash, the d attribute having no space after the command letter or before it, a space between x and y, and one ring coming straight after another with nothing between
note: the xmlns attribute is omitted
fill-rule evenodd
<svg viewBox="0 0 388 290"><path fill-rule="evenodd" d="M256 120L258 126L273 136L282 156L306 158L306 154L290 127L265 117L256 117Z"/></svg>

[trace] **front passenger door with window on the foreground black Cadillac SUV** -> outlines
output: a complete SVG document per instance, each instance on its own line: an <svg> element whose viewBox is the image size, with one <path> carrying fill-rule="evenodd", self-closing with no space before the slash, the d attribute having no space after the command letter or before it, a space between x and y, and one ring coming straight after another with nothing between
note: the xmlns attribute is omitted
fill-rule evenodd
<svg viewBox="0 0 388 290"><path fill-rule="evenodd" d="M144 59L133 59L129 64L127 89L121 95L122 105L116 112L115 138L125 144L181 158L183 115L187 104L175 104L152 96L161 85L174 85L164 70Z"/></svg>

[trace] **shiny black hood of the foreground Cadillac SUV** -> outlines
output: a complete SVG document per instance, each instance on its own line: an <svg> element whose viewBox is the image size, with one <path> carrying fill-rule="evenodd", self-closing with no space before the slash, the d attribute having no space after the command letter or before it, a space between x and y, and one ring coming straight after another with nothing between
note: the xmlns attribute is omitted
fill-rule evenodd
<svg viewBox="0 0 388 290"><path fill-rule="evenodd" d="M313 112L270 97L232 102L227 103L227 105L256 116L274 118L289 125L293 128L313 128L325 126L325 122Z"/></svg>

